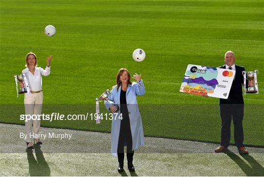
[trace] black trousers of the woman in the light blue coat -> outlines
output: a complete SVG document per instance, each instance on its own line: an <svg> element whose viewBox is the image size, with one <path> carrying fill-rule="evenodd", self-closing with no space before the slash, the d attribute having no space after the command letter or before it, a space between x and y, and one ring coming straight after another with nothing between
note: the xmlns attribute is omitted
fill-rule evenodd
<svg viewBox="0 0 264 177"><path fill-rule="evenodd" d="M128 116L128 115L127 115ZM117 146L117 157L119 163L124 163L124 146L127 145L127 159L129 163L133 161L134 151L132 151L132 134L129 117L123 117L120 123L120 132Z"/></svg>

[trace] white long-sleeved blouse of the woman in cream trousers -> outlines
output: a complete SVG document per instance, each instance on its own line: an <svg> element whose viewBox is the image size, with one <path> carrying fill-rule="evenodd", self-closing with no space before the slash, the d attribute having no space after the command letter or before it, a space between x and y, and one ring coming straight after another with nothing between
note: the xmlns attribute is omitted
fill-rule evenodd
<svg viewBox="0 0 264 177"><path fill-rule="evenodd" d="M41 75L48 76L49 73L50 73L50 67L46 67L45 70L42 67L35 67L34 75L29 71L28 68L25 68L22 71L22 74L26 75L26 79L27 79L28 87L29 87L30 91L42 90L42 77L41 77Z"/></svg>

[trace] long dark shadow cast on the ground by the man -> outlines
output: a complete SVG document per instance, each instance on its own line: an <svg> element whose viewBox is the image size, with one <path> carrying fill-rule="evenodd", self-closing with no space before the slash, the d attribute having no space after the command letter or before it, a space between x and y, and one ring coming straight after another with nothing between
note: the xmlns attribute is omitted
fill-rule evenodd
<svg viewBox="0 0 264 177"><path fill-rule="evenodd" d="M225 151L224 154L236 162L246 176L262 177L264 175L263 166L259 164L254 157L248 154L241 154L241 156L250 164L248 165L242 160L242 158L229 150Z"/></svg>

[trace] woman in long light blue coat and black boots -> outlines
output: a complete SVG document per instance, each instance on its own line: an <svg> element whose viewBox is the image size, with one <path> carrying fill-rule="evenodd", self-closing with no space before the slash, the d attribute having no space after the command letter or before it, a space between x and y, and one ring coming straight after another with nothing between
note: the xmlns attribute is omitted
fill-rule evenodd
<svg viewBox="0 0 264 177"><path fill-rule="evenodd" d="M111 127L111 153L114 156L118 155L118 172L124 171L124 146L127 146L128 169L133 172L134 150L145 143L136 100L137 95L145 94L145 87L141 75L135 74L132 78L137 82L131 82L129 71L121 68L117 73L116 85L110 92L109 101L105 101L106 108L114 113Z"/></svg>

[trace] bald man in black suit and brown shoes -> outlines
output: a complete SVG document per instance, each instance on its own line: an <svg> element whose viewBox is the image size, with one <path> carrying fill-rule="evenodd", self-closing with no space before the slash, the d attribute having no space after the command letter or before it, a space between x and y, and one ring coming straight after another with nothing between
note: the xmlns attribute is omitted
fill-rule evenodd
<svg viewBox="0 0 264 177"><path fill-rule="evenodd" d="M242 120L244 116L244 101L242 96L243 75L245 68L235 64L236 57L234 52L225 53L225 64L220 68L235 70L236 74L227 99L220 98L220 115L221 115L221 144L215 149L216 153L223 152L229 146L230 142L230 125L233 118L234 138L238 150L242 154L248 154L245 149L243 140ZM247 85L247 84L246 84Z"/></svg>

